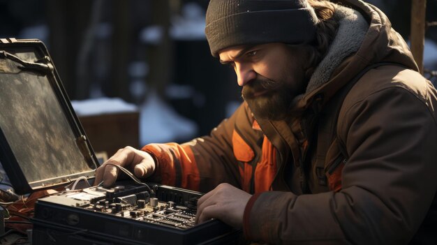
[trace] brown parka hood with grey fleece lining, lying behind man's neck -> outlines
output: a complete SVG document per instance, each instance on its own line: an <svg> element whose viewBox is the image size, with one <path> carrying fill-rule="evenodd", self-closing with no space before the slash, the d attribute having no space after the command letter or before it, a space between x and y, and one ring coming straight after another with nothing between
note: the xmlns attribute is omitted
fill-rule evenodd
<svg viewBox="0 0 437 245"><path fill-rule="evenodd" d="M316 95L327 103L360 70L377 62L394 62L418 70L408 45L392 29L387 16L360 0L338 1L339 29L327 54L311 76L305 94L297 96L292 111L305 110ZM322 95L322 96L320 96Z"/></svg>

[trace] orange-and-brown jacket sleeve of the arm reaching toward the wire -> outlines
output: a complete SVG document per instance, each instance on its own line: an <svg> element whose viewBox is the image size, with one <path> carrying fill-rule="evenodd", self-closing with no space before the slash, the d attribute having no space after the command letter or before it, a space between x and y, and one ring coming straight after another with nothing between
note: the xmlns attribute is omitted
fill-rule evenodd
<svg viewBox="0 0 437 245"><path fill-rule="evenodd" d="M236 119L247 113L247 107L242 104L210 135L184 144L147 144L142 147L157 163L151 181L204 193L223 182L240 187L238 165L232 151L232 132Z"/></svg>

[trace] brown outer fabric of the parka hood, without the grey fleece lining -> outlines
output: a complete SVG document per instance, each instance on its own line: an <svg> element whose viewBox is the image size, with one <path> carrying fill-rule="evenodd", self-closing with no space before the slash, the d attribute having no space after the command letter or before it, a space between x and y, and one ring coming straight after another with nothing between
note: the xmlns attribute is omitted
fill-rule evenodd
<svg viewBox="0 0 437 245"><path fill-rule="evenodd" d="M339 91L370 64L394 62L418 70L408 45L397 31L392 29L390 20L381 10L360 0L340 0L338 3L361 13L361 16L369 23L368 28L357 51L343 59L341 64L333 69L327 82L316 89L307 91L299 100L297 108L300 110L308 108L315 96L323 98L320 101L320 107L323 107L336 91ZM322 63L323 61L320 64Z"/></svg>

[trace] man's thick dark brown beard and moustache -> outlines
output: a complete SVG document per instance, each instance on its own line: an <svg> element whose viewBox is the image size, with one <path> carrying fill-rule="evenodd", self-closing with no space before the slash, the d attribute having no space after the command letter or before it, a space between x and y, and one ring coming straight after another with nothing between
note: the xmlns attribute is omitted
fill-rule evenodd
<svg viewBox="0 0 437 245"><path fill-rule="evenodd" d="M289 117L290 105L296 95L285 82L257 77L244 85L242 97L258 119L283 120Z"/></svg>

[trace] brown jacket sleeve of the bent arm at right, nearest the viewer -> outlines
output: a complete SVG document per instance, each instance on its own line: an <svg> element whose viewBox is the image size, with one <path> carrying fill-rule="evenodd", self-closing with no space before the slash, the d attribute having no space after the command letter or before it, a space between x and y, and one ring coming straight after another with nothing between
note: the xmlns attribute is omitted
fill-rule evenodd
<svg viewBox="0 0 437 245"><path fill-rule="evenodd" d="M407 244L437 190L436 94L419 89L392 86L351 105L339 122L339 140L349 155L342 190L253 195L244 211L246 238L272 244Z"/></svg>

